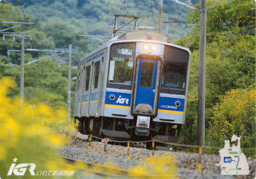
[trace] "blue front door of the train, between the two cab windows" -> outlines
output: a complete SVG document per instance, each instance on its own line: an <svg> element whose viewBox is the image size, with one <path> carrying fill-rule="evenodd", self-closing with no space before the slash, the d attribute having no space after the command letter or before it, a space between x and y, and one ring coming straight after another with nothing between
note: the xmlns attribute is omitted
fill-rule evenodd
<svg viewBox="0 0 256 179"><path fill-rule="evenodd" d="M136 66L137 85L133 97L133 114L156 116L159 91L160 62L157 59L140 58Z"/></svg>

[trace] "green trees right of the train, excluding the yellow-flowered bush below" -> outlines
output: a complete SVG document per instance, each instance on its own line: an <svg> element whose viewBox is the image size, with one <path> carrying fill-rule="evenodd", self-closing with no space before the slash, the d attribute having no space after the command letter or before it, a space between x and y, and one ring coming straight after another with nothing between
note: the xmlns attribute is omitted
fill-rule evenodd
<svg viewBox="0 0 256 179"><path fill-rule="evenodd" d="M200 5L197 6L200 9ZM200 13L191 11L187 17L195 29L190 36L176 43L192 52L186 121L182 132L184 141L195 135L197 123L198 60ZM255 8L253 1L207 1L206 47L206 128L211 127L212 106L219 96L236 88L255 86ZM218 123L218 126L222 126ZM209 131L206 130L206 135ZM213 139L213 138L212 138ZM210 142L207 138L206 142Z"/></svg>

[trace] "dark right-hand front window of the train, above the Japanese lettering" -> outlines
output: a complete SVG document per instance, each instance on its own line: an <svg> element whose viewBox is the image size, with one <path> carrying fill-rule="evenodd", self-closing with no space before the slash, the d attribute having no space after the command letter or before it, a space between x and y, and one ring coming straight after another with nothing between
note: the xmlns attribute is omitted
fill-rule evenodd
<svg viewBox="0 0 256 179"><path fill-rule="evenodd" d="M188 54L165 47L160 93L185 95Z"/></svg>

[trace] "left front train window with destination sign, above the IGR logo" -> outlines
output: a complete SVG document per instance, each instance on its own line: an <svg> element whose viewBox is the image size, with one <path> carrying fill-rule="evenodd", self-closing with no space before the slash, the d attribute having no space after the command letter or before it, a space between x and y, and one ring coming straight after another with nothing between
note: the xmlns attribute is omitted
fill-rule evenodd
<svg viewBox="0 0 256 179"><path fill-rule="evenodd" d="M135 43L114 44L111 47L108 87L132 84Z"/></svg>

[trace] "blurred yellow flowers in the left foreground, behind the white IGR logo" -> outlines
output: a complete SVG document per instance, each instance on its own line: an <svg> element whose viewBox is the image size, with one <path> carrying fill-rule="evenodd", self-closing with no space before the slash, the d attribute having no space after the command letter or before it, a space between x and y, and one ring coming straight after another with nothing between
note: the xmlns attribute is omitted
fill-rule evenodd
<svg viewBox="0 0 256 179"><path fill-rule="evenodd" d="M16 86L15 82L3 78L0 84L0 175L14 175L16 171L27 178L32 174L40 175L42 171L45 174L46 171L48 174L49 171L67 171L60 166L62 160L50 152L63 144L53 132L55 127L63 127L67 121L65 108L53 110L38 103L33 109L32 120L32 108L26 101L22 105L18 97L8 97L9 89ZM46 151L48 148L51 150ZM15 169L14 164L20 169ZM30 164L28 169L27 164Z"/></svg>

